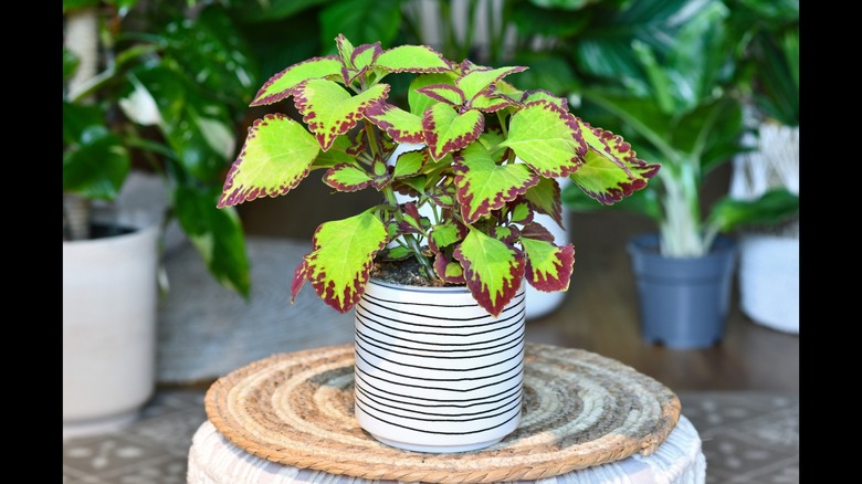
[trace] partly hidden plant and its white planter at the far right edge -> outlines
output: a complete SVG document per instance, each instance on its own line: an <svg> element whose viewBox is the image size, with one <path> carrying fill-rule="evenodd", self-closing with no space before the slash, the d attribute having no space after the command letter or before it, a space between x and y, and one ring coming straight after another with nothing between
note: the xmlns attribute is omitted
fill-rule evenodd
<svg viewBox="0 0 862 484"><path fill-rule="evenodd" d="M799 194L799 2L732 3L740 29L740 83L751 130L733 161L730 197ZM757 324L799 333L799 217L739 234L739 307Z"/></svg>

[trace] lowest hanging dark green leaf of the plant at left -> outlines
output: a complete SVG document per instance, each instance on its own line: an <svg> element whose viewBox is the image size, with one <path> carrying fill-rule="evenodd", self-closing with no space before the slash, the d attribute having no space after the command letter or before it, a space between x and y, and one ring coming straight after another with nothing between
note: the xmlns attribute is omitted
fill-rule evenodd
<svg viewBox="0 0 862 484"><path fill-rule="evenodd" d="M179 186L175 213L213 277L248 298L251 274L242 223L234 208L216 207L218 197L213 188Z"/></svg>

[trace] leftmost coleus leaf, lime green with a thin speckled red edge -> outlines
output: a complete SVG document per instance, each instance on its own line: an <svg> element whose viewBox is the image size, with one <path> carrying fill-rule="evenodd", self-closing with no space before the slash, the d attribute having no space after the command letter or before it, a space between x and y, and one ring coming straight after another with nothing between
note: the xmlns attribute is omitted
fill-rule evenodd
<svg viewBox="0 0 862 484"><path fill-rule="evenodd" d="M319 151L302 124L282 114L267 114L249 128L217 207L287 193L308 176Z"/></svg>

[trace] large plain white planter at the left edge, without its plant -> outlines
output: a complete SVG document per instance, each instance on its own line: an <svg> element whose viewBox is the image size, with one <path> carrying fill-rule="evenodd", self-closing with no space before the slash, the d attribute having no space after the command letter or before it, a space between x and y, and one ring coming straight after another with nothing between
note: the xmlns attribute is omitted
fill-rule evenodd
<svg viewBox="0 0 862 484"><path fill-rule="evenodd" d="M155 390L158 227L63 242L63 436L133 421Z"/></svg>

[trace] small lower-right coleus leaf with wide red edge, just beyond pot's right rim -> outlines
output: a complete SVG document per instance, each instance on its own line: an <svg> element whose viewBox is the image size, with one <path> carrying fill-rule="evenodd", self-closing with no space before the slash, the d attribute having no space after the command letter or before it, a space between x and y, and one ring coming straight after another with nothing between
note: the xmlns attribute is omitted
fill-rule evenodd
<svg viewBox="0 0 862 484"><path fill-rule="evenodd" d="M521 238L521 245L527 254L527 283L538 291L553 293L569 288L575 265L575 246L561 248L544 240Z"/></svg>

